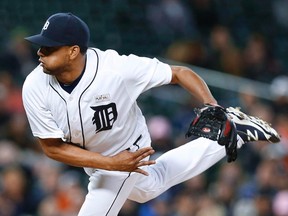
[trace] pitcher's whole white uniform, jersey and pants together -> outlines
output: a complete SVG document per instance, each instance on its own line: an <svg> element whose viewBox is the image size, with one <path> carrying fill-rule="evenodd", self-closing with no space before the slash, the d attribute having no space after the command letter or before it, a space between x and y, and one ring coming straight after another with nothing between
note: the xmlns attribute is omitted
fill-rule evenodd
<svg viewBox="0 0 288 216"><path fill-rule="evenodd" d="M150 145L136 99L148 89L170 83L171 78L170 66L157 59L89 49L83 76L70 94L38 66L25 80L23 102L34 136L61 138L90 151L114 155L131 149L135 142L140 148ZM88 194L78 215L115 216L127 198L151 200L224 156L225 147L199 138L143 167L149 176L86 168Z"/></svg>

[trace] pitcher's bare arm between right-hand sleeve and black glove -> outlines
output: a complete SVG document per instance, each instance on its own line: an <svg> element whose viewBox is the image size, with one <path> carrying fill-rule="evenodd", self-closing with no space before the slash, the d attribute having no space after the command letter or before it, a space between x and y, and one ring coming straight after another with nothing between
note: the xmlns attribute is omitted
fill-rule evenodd
<svg viewBox="0 0 288 216"><path fill-rule="evenodd" d="M203 104L217 104L205 81L187 67L172 66L172 84L179 84Z"/></svg>

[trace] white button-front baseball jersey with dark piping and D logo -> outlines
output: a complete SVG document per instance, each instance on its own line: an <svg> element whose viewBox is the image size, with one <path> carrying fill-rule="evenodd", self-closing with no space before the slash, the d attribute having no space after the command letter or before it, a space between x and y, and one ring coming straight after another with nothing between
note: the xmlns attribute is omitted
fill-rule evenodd
<svg viewBox="0 0 288 216"><path fill-rule="evenodd" d="M155 58L88 49L84 74L70 94L39 65L25 80L23 102L35 137L62 138L114 155L140 136L143 145L150 145L136 99L171 77L170 66Z"/></svg>

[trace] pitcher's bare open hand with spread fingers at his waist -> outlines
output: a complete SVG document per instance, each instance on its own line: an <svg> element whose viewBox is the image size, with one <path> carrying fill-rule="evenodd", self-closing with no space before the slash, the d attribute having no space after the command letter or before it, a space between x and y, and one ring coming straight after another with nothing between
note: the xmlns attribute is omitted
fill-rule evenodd
<svg viewBox="0 0 288 216"><path fill-rule="evenodd" d="M155 164L154 160L143 160L154 153L155 151L152 149L152 147L142 148L136 152L129 152L127 150L122 151L110 158L112 159L110 170L138 172L148 176L148 173L139 167Z"/></svg>

